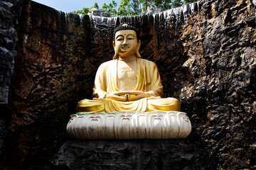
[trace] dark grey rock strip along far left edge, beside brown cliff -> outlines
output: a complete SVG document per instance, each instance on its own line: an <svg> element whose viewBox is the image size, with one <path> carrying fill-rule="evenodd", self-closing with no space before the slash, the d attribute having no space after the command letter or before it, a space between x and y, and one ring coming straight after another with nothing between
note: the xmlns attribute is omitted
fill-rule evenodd
<svg viewBox="0 0 256 170"><path fill-rule="evenodd" d="M18 35L14 26L21 12L22 1L0 1L0 154L4 147L6 135L6 115L8 111L8 95L11 76L14 72L16 43Z"/></svg>

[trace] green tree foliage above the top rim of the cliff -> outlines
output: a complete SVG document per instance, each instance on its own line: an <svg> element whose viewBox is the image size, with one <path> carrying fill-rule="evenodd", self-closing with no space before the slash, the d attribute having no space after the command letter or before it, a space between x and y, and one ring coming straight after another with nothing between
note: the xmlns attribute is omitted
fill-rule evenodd
<svg viewBox="0 0 256 170"><path fill-rule="evenodd" d="M112 1L110 4L102 4L102 10L110 13L110 16L135 16L144 13L147 8L176 8L196 0L122 0L119 8L117 3ZM91 8L99 8L95 3ZM91 8L84 7L82 10L73 11L73 13L87 14Z"/></svg>

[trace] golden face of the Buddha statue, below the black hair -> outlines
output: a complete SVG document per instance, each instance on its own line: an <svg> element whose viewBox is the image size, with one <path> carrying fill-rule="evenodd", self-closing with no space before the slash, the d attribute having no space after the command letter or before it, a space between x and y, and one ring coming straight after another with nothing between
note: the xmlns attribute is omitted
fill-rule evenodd
<svg viewBox="0 0 256 170"><path fill-rule="evenodd" d="M134 30L119 30L115 33L113 47L120 57L135 56L139 52L140 40Z"/></svg>

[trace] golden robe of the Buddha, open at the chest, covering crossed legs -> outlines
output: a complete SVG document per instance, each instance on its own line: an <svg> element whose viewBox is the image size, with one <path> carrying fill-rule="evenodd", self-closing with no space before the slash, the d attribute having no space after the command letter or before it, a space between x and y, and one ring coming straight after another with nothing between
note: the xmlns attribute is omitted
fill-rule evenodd
<svg viewBox="0 0 256 170"><path fill-rule="evenodd" d="M154 62L137 58L137 85L132 91L148 92L151 97L137 101L115 101L105 98L117 88L117 60L100 65L95 77L92 100L78 102L78 113L119 111L180 111L181 103L176 98L161 98L163 86Z"/></svg>

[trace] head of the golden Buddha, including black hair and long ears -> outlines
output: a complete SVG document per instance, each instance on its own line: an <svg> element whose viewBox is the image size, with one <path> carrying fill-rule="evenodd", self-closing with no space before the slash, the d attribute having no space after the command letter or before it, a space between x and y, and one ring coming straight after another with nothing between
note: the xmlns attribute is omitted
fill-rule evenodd
<svg viewBox="0 0 256 170"><path fill-rule="evenodd" d="M113 59L117 59L118 56L129 57L132 55L135 55L136 57L141 57L141 55L139 55L140 45L141 41L139 40L138 30L134 26L124 23L114 29Z"/></svg>

